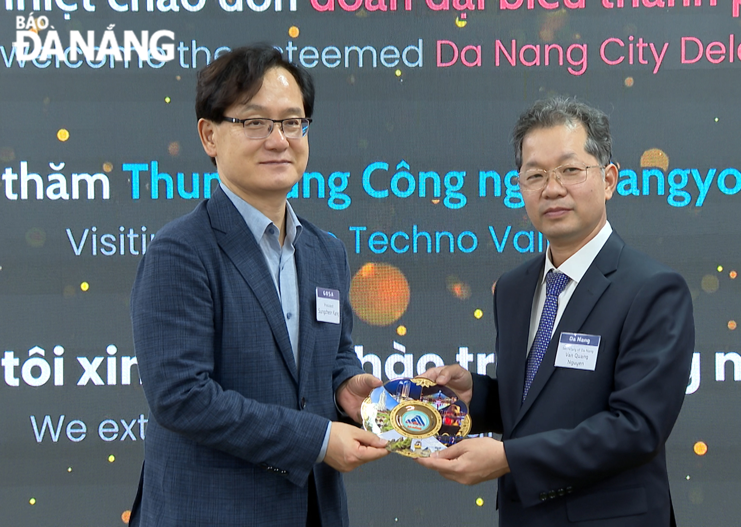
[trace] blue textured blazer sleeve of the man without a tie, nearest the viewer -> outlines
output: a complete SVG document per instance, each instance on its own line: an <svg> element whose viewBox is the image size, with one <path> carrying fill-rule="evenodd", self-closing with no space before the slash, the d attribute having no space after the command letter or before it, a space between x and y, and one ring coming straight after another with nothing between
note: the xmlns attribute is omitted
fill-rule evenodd
<svg viewBox="0 0 741 527"><path fill-rule="evenodd" d="M212 378L218 337L205 265L191 244L158 234L131 294L142 387L156 422L201 445L272 465L296 485L313 468L328 420L247 399ZM256 382L269 382L266 379Z"/></svg>

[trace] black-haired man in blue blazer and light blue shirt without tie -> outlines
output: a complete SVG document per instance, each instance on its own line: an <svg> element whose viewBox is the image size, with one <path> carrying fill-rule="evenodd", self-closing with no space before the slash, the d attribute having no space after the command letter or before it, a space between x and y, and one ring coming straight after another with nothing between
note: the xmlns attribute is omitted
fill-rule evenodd
<svg viewBox="0 0 741 527"><path fill-rule="evenodd" d="M136 274L151 414L134 525L347 526L339 471L388 453L337 422L359 421L381 385L353 351L345 247L286 201L307 165L313 95L270 46L199 73L220 187L157 233Z"/></svg>

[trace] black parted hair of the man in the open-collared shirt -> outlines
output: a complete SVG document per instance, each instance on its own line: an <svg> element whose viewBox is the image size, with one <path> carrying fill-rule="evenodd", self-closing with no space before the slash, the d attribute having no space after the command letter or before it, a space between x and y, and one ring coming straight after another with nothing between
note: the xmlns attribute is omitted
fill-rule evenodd
<svg viewBox="0 0 741 527"><path fill-rule="evenodd" d="M262 87L265 73L282 67L299 84L306 117L314 110L314 82L308 71L283 58L270 44L254 44L223 53L198 72L196 119L221 122L224 112L236 102L248 102ZM216 159L211 158L216 165Z"/></svg>

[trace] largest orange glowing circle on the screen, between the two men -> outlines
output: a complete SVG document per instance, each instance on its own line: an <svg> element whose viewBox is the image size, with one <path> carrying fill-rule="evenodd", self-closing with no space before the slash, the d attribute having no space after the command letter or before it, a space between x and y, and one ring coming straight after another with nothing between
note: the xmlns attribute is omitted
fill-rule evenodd
<svg viewBox="0 0 741 527"><path fill-rule="evenodd" d="M398 268L368 262L350 282L350 305L363 322L389 325L407 311L409 282Z"/></svg>

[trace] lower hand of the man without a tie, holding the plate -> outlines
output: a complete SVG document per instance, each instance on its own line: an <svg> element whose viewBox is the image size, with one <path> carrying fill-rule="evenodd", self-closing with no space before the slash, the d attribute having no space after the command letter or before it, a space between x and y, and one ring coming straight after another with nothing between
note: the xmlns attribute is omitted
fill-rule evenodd
<svg viewBox="0 0 741 527"><path fill-rule="evenodd" d="M349 472L387 455L386 443L388 441L376 434L335 421L332 422L324 463L337 471Z"/></svg>

